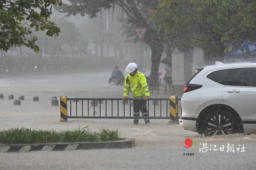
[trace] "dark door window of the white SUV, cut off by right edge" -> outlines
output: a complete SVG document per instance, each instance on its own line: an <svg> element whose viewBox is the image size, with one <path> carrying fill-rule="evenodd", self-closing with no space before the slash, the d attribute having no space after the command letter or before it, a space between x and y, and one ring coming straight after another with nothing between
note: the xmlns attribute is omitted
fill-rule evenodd
<svg viewBox="0 0 256 170"><path fill-rule="evenodd" d="M237 68L233 86L256 87L256 67Z"/></svg>

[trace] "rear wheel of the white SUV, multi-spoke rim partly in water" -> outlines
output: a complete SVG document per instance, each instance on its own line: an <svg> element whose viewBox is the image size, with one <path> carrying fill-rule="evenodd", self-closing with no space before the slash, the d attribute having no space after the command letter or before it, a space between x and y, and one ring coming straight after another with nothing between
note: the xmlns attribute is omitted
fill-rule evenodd
<svg viewBox="0 0 256 170"><path fill-rule="evenodd" d="M204 136L228 135L234 133L235 121L229 112L215 110L204 119Z"/></svg>

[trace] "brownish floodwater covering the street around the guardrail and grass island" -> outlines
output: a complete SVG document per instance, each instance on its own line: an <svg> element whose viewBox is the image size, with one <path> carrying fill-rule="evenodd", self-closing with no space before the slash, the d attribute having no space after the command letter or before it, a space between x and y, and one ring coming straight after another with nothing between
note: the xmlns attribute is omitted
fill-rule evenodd
<svg viewBox="0 0 256 170"><path fill-rule="evenodd" d="M98 131L105 127L119 129L124 137L134 138L135 148L0 153L0 169L256 169L255 134L202 137L177 124L168 124L168 119L151 120L150 124L144 124L141 119L138 125L133 125L132 119L69 119L60 122L60 108L51 106L52 96L57 96L58 100L62 95L121 98L123 87L108 84L109 76L110 73L84 73L2 78L0 93L4 94L4 99L0 99L0 129L67 130L88 126L90 130ZM24 95L25 100L21 101L21 106L14 106L13 100L8 100L9 94L13 94L14 99ZM33 102L34 96L39 97L39 102ZM81 107L81 102L78 105ZM121 103L119 106L122 107ZM91 109L89 114L93 112ZM183 155L186 138L196 142L190 152L194 155ZM200 150L202 143L207 143L207 152ZM234 145L235 153L227 153L228 144ZM224 151L220 151L222 145ZM245 152L237 152L239 145L245 147Z"/></svg>

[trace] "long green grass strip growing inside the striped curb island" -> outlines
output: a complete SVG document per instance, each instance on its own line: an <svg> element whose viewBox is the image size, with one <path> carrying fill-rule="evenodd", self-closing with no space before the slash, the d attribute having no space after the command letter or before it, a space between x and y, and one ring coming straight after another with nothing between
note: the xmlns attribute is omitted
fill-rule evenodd
<svg viewBox="0 0 256 170"><path fill-rule="evenodd" d="M101 128L91 132L88 127L78 130L31 130L25 127L0 130L0 144L39 144L68 142L107 142L122 140L119 130Z"/></svg>

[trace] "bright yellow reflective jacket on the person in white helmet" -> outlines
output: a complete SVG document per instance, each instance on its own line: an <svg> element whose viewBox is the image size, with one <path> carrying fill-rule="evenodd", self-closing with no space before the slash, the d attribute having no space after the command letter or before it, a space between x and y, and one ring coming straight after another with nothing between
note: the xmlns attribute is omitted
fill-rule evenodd
<svg viewBox="0 0 256 170"><path fill-rule="evenodd" d="M123 96L127 97L129 91L133 92L133 97L140 98L143 94L150 96L148 91L148 83L143 73L137 71L134 76L126 74L124 80Z"/></svg>

